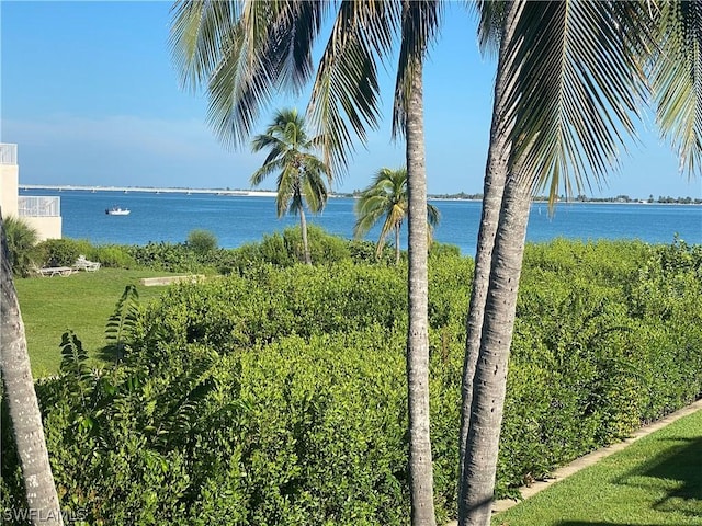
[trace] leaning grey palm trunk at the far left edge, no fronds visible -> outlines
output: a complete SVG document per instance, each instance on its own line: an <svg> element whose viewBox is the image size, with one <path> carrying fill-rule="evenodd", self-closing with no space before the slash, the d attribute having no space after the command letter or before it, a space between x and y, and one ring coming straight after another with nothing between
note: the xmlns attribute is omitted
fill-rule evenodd
<svg viewBox="0 0 702 526"><path fill-rule="evenodd" d="M33 524L60 525L63 524L60 507L46 450L42 413L34 391L24 323L12 282L2 218L0 218L0 230L2 238L0 369L12 420L14 442L22 466L29 516Z"/></svg>

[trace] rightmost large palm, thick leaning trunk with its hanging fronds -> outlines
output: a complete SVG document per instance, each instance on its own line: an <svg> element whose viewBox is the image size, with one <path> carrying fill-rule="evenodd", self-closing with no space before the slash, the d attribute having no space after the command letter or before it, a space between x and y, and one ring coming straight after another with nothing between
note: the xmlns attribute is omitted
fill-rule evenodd
<svg viewBox="0 0 702 526"><path fill-rule="evenodd" d="M702 107L702 9L694 2L671 2L656 12L655 20L648 7L567 1L508 8L500 54L506 59L500 61L496 84L508 111L498 117L491 135L491 141L500 138L500 129L506 135L508 162L487 293L475 305L472 301L472 309L482 304L484 318L477 334L479 359L473 375L466 371L472 400L469 416L463 416L468 424L462 458L462 525L490 521L530 197L547 186L553 201L562 184L573 195L590 186L589 178L598 184L604 178L618 147L623 147L619 129L634 132L632 117L643 107L645 95L641 59L650 58L652 49L659 123L671 130L689 171L699 171L702 123L695 115Z"/></svg>

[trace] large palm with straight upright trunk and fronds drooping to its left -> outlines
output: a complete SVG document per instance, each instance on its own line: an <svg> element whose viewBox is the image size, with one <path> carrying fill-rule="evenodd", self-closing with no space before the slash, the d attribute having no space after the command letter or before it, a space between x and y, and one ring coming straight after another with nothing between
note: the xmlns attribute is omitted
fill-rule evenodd
<svg viewBox="0 0 702 526"><path fill-rule="evenodd" d="M352 134L365 139L380 116L376 64L401 37L394 135L405 135L409 196L408 397L412 524L435 524L429 438L427 193L422 61L440 23L441 2L325 0L174 4L171 45L183 84L206 85L210 124L228 145L248 137L280 89L299 92L312 79L312 49L331 7L338 11L314 77L307 114L325 162L343 172Z"/></svg>

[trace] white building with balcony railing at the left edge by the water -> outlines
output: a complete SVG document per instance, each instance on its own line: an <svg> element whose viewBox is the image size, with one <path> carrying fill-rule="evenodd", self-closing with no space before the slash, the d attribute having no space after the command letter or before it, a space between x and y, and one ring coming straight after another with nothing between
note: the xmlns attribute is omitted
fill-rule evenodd
<svg viewBox="0 0 702 526"><path fill-rule="evenodd" d="M20 196L18 145L0 142L0 213L14 216L36 229L39 241L60 239L61 198Z"/></svg>

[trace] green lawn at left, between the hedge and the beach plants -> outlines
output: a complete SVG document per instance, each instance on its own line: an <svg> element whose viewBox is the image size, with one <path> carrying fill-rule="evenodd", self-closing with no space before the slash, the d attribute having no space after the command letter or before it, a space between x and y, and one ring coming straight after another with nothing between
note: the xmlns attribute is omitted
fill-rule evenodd
<svg viewBox="0 0 702 526"><path fill-rule="evenodd" d="M67 277L15 279L34 377L58 370L61 334L68 329L97 356L105 345L105 323L124 287L136 285L144 304L158 297L163 287L144 287L139 279L163 275L168 273L101 268Z"/></svg>

